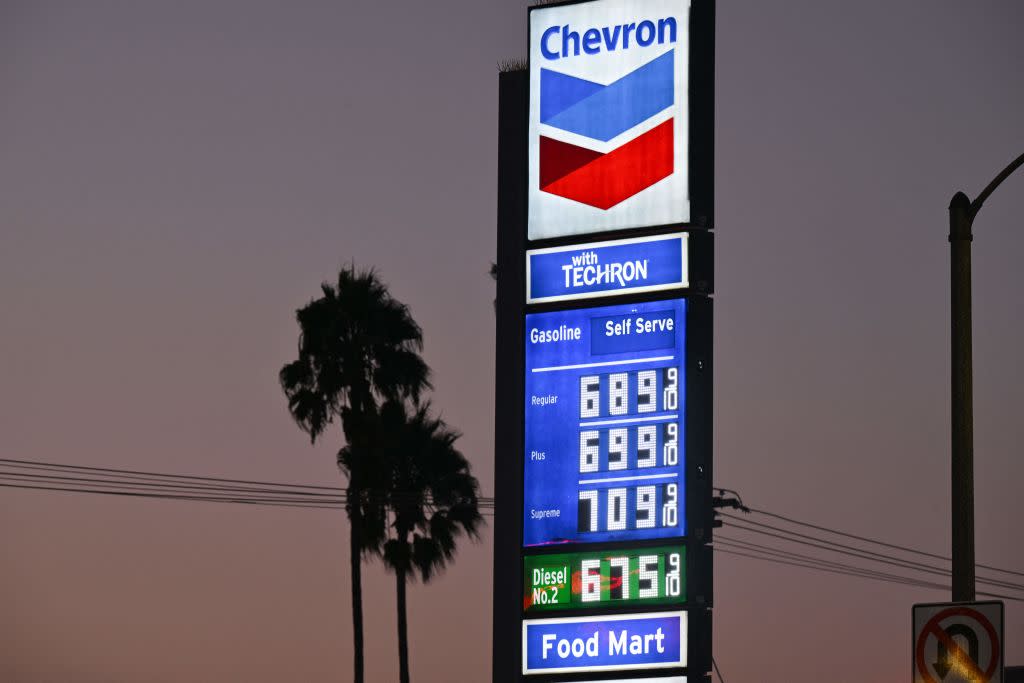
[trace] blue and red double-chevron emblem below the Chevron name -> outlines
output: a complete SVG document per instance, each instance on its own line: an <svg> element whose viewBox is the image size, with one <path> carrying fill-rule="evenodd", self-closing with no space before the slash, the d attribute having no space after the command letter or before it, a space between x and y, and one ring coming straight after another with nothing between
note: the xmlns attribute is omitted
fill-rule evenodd
<svg viewBox="0 0 1024 683"><path fill-rule="evenodd" d="M608 85L541 69L541 123L608 142L675 102L675 50ZM610 152L540 136L545 193L607 210L674 171L673 120Z"/></svg>

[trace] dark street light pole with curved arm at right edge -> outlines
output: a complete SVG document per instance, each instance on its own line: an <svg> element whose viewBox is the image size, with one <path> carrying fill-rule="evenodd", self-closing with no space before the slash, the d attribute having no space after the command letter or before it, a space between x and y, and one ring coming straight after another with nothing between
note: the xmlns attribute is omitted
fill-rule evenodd
<svg viewBox="0 0 1024 683"><path fill-rule="evenodd" d="M981 205L1024 164L1024 155L995 176L973 202L956 193L949 202L950 428L952 477L952 599L975 599L974 371L972 368L971 228Z"/></svg>

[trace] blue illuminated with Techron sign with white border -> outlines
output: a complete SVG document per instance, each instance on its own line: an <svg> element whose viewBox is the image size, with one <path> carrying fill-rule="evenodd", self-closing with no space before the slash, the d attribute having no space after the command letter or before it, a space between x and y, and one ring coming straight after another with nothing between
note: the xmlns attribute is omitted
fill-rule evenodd
<svg viewBox="0 0 1024 683"><path fill-rule="evenodd" d="M526 252L526 303L689 287L684 232Z"/></svg>

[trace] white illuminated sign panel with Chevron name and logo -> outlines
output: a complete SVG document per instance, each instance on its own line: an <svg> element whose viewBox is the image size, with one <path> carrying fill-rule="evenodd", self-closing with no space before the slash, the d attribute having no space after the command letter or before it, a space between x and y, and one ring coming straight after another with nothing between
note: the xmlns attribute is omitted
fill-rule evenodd
<svg viewBox="0 0 1024 683"><path fill-rule="evenodd" d="M686 223L690 0L529 12L530 240Z"/></svg>

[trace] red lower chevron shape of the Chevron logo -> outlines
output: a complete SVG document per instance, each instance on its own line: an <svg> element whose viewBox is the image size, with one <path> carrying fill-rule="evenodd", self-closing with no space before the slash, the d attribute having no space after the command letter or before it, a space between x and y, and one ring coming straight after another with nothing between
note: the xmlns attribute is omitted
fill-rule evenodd
<svg viewBox="0 0 1024 683"><path fill-rule="evenodd" d="M600 154L541 136L541 189L610 209L674 172L673 120Z"/></svg>

